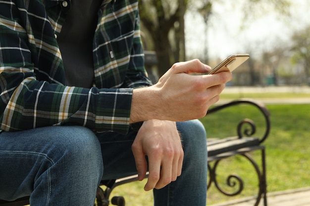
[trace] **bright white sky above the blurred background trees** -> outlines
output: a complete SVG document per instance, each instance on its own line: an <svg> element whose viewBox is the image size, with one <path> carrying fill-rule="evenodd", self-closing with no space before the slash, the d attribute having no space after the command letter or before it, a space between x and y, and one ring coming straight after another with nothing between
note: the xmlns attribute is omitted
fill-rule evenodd
<svg viewBox="0 0 310 206"><path fill-rule="evenodd" d="M185 38L188 58L204 61L206 45L210 59L223 59L232 53L254 53L289 43L294 31L310 25L310 0L292 0L292 16L284 20L279 14L268 12L257 19L244 22L242 2L222 0L213 4L213 15L206 26L202 16L188 11L185 16ZM232 5L234 2L234 5ZM241 25L245 29L241 30Z"/></svg>

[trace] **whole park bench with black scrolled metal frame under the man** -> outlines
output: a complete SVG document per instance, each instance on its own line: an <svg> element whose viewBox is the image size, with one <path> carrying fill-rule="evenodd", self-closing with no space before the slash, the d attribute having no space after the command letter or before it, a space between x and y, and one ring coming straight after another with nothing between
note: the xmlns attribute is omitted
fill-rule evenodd
<svg viewBox="0 0 310 206"><path fill-rule="evenodd" d="M259 114L264 120L263 129L260 130L261 137L256 137L257 126L253 120L243 119L237 123L236 136L225 138L207 138L208 148L208 182L207 188L209 189L212 184L224 195L236 196L239 195L244 187L241 177L235 174L231 174L227 178L227 185L229 187L236 187L233 192L227 192L222 189L218 182L217 167L220 165L220 161L241 155L245 157L255 168L255 172L258 176L258 194L254 206L258 206L261 199L263 199L264 206L267 206L266 198L266 165L265 165L265 146L261 143L267 138L270 130L269 112L266 107L251 99L239 99L232 102L214 106L208 110L207 116L212 115L215 112L221 111L226 108L230 108L237 105L250 105L256 107ZM223 121L225 122L225 121ZM224 124L224 123L223 123ZM260 152L260 164L251 157L251 152ZM116 206L125 206L125 200L123 197L113 197L110 199L112 190L122 184L137 181L137 176L130 176L121 179L105 180L102 181L102 186L97 189L97 206L108 206L109 203ZM29 197L21 198L14 202L6 202L0 200L0 206L23 206L29 204Z"/></svg>

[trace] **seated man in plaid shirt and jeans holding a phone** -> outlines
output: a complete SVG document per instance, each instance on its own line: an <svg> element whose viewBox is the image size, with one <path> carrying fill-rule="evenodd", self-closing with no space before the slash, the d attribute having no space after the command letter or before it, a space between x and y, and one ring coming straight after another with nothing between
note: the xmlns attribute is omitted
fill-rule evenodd
<svg viewBox="0 0 310 206"><path fill-rule="evenodd" d="M190 75L209 70L176 63L151 85L137 0L0 1L0 199L91 206L101 179L149 170L155 206L205 206L206 134L188 120L231 79Z"/></svg>

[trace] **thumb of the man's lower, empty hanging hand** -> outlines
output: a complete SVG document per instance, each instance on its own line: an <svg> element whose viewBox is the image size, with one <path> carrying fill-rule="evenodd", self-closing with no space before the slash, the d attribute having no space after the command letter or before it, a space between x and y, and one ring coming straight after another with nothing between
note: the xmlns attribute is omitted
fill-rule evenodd
<svg viewBox="0 0 310 206"><path fill-rule="evenodd" d="M132 145L132 153L135 158L136 168L138 172L138 180L142 181L147 173L147 161L145 159L145 154L141 147L137 144Z"/></svg>

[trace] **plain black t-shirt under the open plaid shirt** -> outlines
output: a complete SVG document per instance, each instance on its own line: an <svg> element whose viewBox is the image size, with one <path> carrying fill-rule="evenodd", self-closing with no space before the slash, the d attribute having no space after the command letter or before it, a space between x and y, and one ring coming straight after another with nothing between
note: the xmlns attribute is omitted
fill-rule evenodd
<svg viewBox="0 0 310 206"><path fill-rule="evenodd" d="M57 37L69 86L90 88L94 81L93 38L102 0L71 0Z"/></svg>

